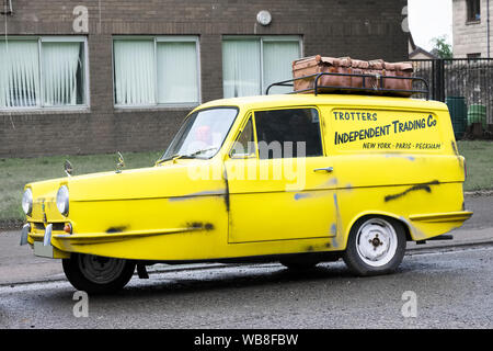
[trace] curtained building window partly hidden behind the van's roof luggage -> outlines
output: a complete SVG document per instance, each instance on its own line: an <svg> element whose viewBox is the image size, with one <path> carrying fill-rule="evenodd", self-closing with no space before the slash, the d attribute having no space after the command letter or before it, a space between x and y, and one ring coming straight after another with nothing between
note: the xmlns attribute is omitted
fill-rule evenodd
<svg viewBox="0 0 493 351"><path fill-rule="evenodd" d="M299 36L228 36L222 41L225 98L265 93L273 82L291 79L291 64L301 56ZM290 88L275 87L272 93Z"/></svg>

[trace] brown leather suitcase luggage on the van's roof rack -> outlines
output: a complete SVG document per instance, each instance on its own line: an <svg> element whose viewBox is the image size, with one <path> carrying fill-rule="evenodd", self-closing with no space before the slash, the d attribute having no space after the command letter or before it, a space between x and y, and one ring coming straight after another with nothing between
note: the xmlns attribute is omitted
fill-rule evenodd
<svg viewBox="0 0 493 351"><path fill-rule="evenodd" d="M321 55L306 57L293 63L293 77L295 79L317 73L347 73L347 75L370 75L374 77L355 76L322 76L319 78L319 92L334 91L341 88L366 88L379 92L379 89L393 90L391 94L410 97L412 93L411 79L392 79L386 77L411 78L413 66L411 63L386 63L382 59L357 60L351 57L323 57ZM312 92L316 77L307 77L294 81L295 91ZM335 87L335 88L323 88ZM351 92L351 90L348 90ZM386 93L386 92L381 92Z"/></svg>

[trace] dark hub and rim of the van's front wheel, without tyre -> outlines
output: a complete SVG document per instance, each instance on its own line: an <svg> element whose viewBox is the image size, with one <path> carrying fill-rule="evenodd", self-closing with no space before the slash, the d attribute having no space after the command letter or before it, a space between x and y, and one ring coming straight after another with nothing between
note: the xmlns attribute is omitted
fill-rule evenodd
<svg viewBox="0 0 493 351"><path fill-rule="evenodd" d="M107 284L122 274L125 268L125 260L80 254L79 267L89 281L96 284Z"/></svg>

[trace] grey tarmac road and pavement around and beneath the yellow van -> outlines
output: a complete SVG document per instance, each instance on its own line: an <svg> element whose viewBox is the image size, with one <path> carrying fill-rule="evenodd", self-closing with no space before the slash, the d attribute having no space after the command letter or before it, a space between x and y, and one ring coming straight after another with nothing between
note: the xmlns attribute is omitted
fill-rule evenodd
<svg viewBox="0 0 493 351"><path fill-rule="evenodd" d="M157 265L113 296L74 288L60 262L0 234L0 328L492 328L493 196L467 197L474 216L452 241L409 245L397 274L354 278L343 262L305 273L279 264ZM186 269L188 268L188 269ZM416 317L404 317L404 292Z"/></svg>

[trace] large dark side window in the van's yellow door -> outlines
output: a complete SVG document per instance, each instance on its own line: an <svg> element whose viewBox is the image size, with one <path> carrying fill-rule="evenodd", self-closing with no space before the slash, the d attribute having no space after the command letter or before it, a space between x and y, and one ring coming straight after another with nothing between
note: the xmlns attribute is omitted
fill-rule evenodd
<svg viewBox="0 0 493 351"><path fill-rule="evenodd" d="M323 156L316 109L255 112L261 159Z"/></svg>

